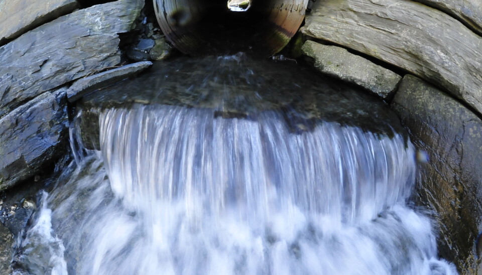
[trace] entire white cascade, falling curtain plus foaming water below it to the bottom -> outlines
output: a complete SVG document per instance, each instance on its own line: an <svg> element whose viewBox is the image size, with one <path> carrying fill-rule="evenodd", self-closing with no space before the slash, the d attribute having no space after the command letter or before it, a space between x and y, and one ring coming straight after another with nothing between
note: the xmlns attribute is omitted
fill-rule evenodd
<svg viewBox="0 0 482 275"><path fill-rule="evenodd" d="M102 110L100 150L60 176L15 272L456 274L407 206L416 163L404 136L336 121L295 131L286 112Z"/></svg>

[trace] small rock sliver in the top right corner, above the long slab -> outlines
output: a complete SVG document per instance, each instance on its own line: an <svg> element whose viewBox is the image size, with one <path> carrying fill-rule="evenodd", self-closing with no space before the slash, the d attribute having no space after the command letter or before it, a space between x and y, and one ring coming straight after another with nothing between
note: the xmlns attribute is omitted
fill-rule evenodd
<svg viewBox="0 0 482 275"><path fill-rule="evenodd" d="M415 0L444 11L482 35L482 1L480 0Z"/></svg>

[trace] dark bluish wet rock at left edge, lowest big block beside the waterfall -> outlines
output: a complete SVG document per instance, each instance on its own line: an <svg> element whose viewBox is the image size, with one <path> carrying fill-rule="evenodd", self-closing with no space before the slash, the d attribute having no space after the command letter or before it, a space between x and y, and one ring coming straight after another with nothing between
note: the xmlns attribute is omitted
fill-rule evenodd
<svg viewBox="0 0 482 275"><path fill-rule="evenodd" d="M45 92L0 119L0 190L62 154L68 118L64 89Z"/></svg>

